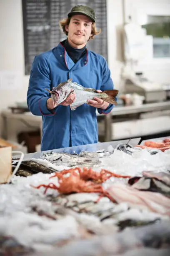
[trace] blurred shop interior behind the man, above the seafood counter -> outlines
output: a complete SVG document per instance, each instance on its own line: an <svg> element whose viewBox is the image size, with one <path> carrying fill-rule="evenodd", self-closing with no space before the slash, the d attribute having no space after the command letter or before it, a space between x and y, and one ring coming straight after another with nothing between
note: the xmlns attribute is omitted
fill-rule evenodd
<svg viewBox="0 0 170 256"><path fill-rule="evenodd" d="M0 0L0 138L40 151L41 117L26 104L35 55L65 35L72 6L95 9L102 33L87 48L108 62L117 106L97 115L99 141L170 135L170 0Z"/></svg>

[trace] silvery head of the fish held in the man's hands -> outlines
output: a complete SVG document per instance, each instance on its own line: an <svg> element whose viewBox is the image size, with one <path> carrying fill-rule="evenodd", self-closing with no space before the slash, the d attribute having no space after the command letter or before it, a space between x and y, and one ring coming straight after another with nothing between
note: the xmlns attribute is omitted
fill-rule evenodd
<svg viewBox="0 0 170 256"><path fill-rule="evenodd" d="M70 87L71 80L68 79L66 82L62 82L57 87L52 88L51 97L55 105L59 105L70 95L72 90Z"/></svg>

